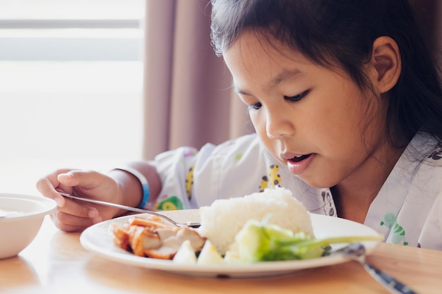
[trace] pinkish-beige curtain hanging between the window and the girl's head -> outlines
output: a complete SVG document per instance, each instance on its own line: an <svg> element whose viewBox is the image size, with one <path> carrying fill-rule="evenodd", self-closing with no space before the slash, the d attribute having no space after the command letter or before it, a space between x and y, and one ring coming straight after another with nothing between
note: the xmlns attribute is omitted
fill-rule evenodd
<svg viewBox="0 0 442 294"><path fill-rule="evenodd" d="M143 157L251 133L210 44L208 0L147 0Z"/></svg>

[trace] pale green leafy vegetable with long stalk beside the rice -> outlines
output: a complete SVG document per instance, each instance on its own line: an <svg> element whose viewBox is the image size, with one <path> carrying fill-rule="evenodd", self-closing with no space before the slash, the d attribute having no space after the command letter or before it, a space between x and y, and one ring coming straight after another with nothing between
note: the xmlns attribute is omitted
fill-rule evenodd
<svg viewBox="0 0 442 294"><path fill-rule="evenodd" d="M308 233L280 228L267 221L247 221L235 237L235 246L244 262L280 261L321 257L333 243L379 240L377 235L314 238Z"/></svg>

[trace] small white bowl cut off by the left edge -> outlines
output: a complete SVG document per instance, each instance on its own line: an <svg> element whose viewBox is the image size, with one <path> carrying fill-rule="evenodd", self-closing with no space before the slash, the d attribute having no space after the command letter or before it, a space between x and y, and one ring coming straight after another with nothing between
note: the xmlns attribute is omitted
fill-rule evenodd
<svg viewBox="0 0 442 294"><path fill-rule="evenodd" d="M44 216L54 212L54 200L43 196L0 193L0 259L14 257L40 231Z"/></svg>

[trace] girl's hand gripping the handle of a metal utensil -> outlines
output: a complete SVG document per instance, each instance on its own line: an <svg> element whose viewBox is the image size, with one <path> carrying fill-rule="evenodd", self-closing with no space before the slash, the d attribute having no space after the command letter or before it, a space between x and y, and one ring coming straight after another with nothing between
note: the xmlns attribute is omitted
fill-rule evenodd
<svg viewBox="0 0 442 294"><path fill-rule="evenodd" d="M83 231L94 223L122 213L113 207L71 200L57 192L123 203L123 191L117 181L97 171L59 169L38 180L37 190L56 201L57 211L51 217L61 231Z"/></svg>

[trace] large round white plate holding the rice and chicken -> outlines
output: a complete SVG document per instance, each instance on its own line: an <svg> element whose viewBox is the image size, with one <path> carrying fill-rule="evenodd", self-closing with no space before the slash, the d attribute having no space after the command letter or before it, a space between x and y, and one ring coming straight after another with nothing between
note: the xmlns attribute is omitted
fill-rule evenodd
<svg viewBox="0 0 442 294"><path fill-rule="evenodd" d="M301 269L324 267L331 264L347 262L348 259L340 255L319 257L316 259L302 259L284 262L257 262L254 264L213 264L213 265L184 265L174 264L171 260L138 257L117 247L113 243L110 231L111 223L126 223L133 216L122 216L90 226L80 235L80 243L86 250L95 252L107 259L131 264L147 269L168 271L174 274L203 277L231 277L246 278L258 276L276 276L289 274ZM373 229L346 219L331 216L311 214L313 230L317 238L338 237L345 235L378 235ZM364 242L367 254L374 250L378 242Z"/></svg>

